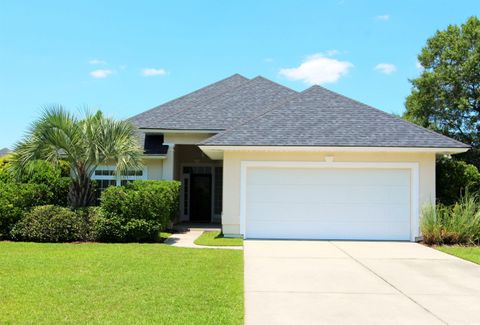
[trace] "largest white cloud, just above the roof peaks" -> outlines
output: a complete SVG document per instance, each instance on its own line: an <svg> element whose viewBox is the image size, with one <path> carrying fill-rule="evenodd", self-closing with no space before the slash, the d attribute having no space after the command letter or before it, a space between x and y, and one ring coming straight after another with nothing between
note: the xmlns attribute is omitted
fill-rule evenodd
<svg viewBox="0 0 480 325"><path fill-rule="evenodd" d="M337 82L353 67L351 62L327 57L337 53L336 50L330 50L311 55L297 68L281 69L280 74L290 80L301 80L309 85Z"/></svg>

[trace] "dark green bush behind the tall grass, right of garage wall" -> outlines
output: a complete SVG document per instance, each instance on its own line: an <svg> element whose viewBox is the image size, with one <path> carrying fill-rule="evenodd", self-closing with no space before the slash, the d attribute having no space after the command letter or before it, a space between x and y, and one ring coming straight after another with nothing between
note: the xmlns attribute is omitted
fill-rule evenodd
<svg viewBox="0 0 480 325"><path fill-rule="evenodd" d="M436 164L437 200L446 205L457 202L467 190L480 190L480 172L474 165L455 158L443 157Z"/></svg>

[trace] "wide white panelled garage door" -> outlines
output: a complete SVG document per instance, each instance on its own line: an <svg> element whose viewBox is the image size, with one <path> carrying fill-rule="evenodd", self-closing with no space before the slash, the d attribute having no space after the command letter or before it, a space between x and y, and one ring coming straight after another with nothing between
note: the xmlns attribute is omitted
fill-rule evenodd
<svg viewBox="0 0 480 325"><path fill-rule="evenodd" d="M410 169L251 167L245 185L246 238L410 239Z"/></svg>

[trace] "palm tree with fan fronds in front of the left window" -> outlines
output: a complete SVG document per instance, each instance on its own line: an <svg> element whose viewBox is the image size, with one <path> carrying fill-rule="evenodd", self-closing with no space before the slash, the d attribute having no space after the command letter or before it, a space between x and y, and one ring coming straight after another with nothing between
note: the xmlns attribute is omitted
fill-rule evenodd
<svg viewBox="0 0 480 325"><path fill-rule="evenodd" d="M105 117L101 111L79 119L62 106L50 106L15 146L11 168L21 175L28 173L36 160L54 164L66 160L72 178L69 204L73 208L85 207L94 202L91 177L99 165L114 164L116 173L141 168L135 134L131 123Z"/></svg>

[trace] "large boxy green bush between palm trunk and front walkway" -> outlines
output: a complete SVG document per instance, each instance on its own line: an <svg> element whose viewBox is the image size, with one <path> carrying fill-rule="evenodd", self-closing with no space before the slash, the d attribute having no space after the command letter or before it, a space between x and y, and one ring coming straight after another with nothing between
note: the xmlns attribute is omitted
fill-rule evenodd
<svg viewBox="0 0 480 325"><path fill-rule="evenodd" d="M109 187L101 196L102 216L93 226L99 241L151 242L175 219L180 182L135 181Z"/></svg>

